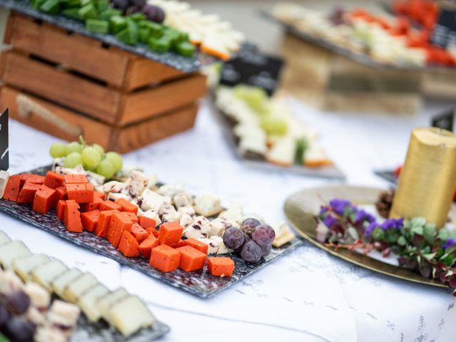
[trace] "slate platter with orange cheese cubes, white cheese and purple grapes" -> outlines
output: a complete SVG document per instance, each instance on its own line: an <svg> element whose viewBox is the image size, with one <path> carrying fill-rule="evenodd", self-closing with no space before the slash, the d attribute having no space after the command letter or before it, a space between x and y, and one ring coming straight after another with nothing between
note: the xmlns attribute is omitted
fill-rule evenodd
<svg viewBox="0 0 456 342"><path fill-rule="evenodd" d="M14 199L11 191L14 186L7 185L4 199L0 199L0 211L190 294L202 298L214 296L302 243L284 222L273 227L260 224L261 219L246 218L239 205L224 209L217 197L193 197L183 190L182 184L162 185L156 177L147 180L138 170L130 170L129 175L128 172L123 174L126 171L118 172L116 179L124 182L104 182L105 177L86 172L81 165L73 169L61 166L61 159L56 158L53 166L39 167L19 178L16 175L9 177L9 181L18 182L17 187L23 177L22 195L16 193ZM66 157L66 160L70 159ZM63 165L69 164L63 162ZM103 167L96 170L102 172ZM78 190L81 184L72 184L78 182L80 176L88 180L83 190ZM112 178L113 172L107 176ZM54 202L54 210L49 196L57 196L62 187L51 183L63 180L63 177L69 199L59 200L57 205ZM44 180L45 183L40 183ZM82 199L90 193L89 188L92 196L96 195L90 203ZM35 194L34 200L30 193ZM105 197L104 202L95 199L98 195ZM108 216L110 222L106 225ZM100 223L102 221L104 223ZM117 229L118 224L122 229L115 237L117 233L113 229ZM261 229L255 228L260 225ZM247 231L247 228L249 236L241 230ZM254 234L256 230L257 235ZM255 243L257 241L261 247ZM166 262L159 261L160 258Z"/></svg>

